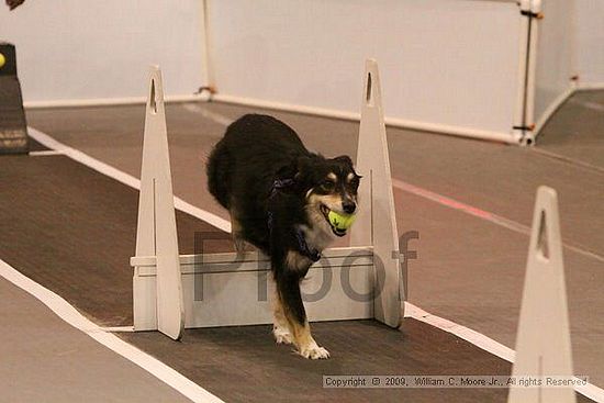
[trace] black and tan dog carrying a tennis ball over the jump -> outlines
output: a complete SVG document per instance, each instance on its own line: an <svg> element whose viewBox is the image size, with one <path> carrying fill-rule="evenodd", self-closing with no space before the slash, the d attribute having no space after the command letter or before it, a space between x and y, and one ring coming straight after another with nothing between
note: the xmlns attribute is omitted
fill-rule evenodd
<svg viewBox="0 0 604 403"><path fill-rule="evenodd" d="M300 355L329 357L311 336L300 281L321 251L346 231L328 214L357 209L360 176L348 156L309 152L275 117L248 114L232 123L208 161L210 192L231 213L236 245L249 242L270 256L276 281L273 335Z"/></svg>

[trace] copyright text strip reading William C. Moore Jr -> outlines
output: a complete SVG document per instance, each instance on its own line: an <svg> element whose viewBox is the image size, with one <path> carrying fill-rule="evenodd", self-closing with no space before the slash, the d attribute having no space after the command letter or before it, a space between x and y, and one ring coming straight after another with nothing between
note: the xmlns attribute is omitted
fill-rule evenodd
<svg viewBox="0 0 604 403"><path fill-rule="evenodd" d="M476 388L575 388L588 377L510 376L323 376L323 388L344 389L476 389Z"/></svg>

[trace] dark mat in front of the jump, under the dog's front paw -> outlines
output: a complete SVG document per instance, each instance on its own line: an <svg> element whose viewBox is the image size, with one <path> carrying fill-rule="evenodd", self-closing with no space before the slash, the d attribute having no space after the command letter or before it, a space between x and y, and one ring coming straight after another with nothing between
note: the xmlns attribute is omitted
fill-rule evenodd
<svg viewBox="0 0 604 403"><path fill-rule="evenodd" d="M270 326L121 334L227 402L506 402L506 389L324 389L323 376L502 374L511 365L448 333L406 318L403 332L373 321L315 323L328 360L276 346ZM579 402L589 400L578 395Z"/></svg>

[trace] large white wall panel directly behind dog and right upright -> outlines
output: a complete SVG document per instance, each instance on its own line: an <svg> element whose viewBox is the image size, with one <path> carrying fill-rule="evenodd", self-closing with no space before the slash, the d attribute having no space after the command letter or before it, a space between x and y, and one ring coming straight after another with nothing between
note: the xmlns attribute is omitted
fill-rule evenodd
<svg viewBox="0 0 604 403"><path fill-rule="evenodd" d="M213 0L219 93L358 112L363 60L380 63L389 117L512 131L514 2Z"/></svg>

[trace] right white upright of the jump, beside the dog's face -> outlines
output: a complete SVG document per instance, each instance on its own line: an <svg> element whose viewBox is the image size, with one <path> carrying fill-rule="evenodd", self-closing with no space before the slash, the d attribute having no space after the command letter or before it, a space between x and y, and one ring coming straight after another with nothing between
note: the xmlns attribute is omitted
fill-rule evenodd
<svg viewBox="0 0 604 403"><path fill-rule="evenodd" d="M351 245L373 245L374 281L377 290L381 290L374 295L373 314L380 322L399 327L403 317L404 289L380 72L374 59L365 64L356 170L365 175L365 179L359 187L362 208L351 228Z"/></svg>

